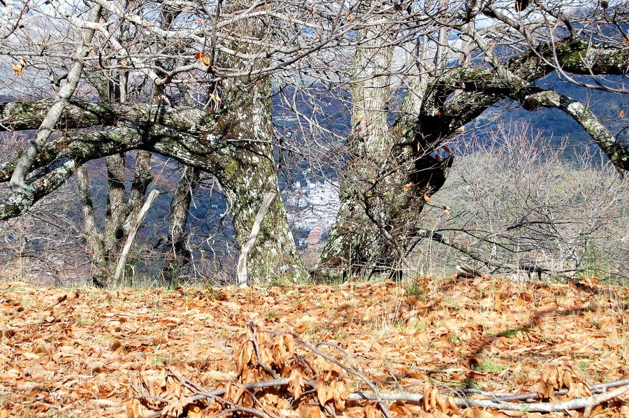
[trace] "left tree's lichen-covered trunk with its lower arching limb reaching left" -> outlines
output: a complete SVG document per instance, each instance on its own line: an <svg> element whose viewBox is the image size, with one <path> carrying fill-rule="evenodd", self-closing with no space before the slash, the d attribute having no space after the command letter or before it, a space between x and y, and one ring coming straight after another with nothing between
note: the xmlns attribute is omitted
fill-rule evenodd
<svg viewBox="0 0 629 418"><path fill-rule="evenodd" d="M241 86L239 86L241 87ZM236 96L236 94L234 94ZM0 205L0 219L22 215L36 201L56 189L75 168L106 155L140 149L157 152L217 176L228 196L236 239L241 245L249 236L256 212L269 190L278 191L273 147L270 143L270 84L261 83L259 89L243 91L234 99L233 107L225 116L212 121L194 134L167 129L159 124L126 126L93 134L76 134L64 142L64 151L52 161L41 161L50 168L43 178L31 182L35 193L20 196ZM240 119L233 120L232 116ZM243 123L240 123L243 122ZM205 133L214 132L214 134ZM10 164L10 163L8 163ZM57 173L51 173L58 167ZM256 283L274 280L292 282L305 280L305 269L288 229L284 204L275 199L261 233L250 253L247 268Z"/></svg>

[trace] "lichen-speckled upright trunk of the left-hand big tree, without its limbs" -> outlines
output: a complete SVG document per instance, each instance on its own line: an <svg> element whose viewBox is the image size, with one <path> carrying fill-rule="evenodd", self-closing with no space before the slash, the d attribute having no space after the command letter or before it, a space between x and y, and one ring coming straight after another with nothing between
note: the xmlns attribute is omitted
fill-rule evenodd
<svg viewBox="0 0 629 418"><path fill-rule="evenodd" d="M229 118L237 122L226 138L231 141L231 152L223 159L222 171L216 175L229 201L236 240L241 248L250 236L265 194L278 194L247 259L250 284L301 282L307 275L288 228L286 209L277 185L270 79L245 80L247 82L247 89L240 84L227 87L226 109Z"/></svg>

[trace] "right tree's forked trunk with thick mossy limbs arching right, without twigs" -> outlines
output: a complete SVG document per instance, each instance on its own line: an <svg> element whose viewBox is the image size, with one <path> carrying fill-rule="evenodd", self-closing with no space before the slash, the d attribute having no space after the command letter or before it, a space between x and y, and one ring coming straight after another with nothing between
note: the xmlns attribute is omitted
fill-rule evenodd
<svg viewBox="0 0 629 418"><path fill-rule="evenodd" d="M368 32L363 31L362 36ZM386 43L382 37L375 39L375 43ZM396 122L387 129L388 81L383 76L373 77L387 72L386 48L366 45L368 48L357 49L354 59L354 68L361 71L354 75L352 89L350 152L337 222L314 271L319 280L398 275L418 238L421 210L444 185L452 163L449 152L440 152L439 157L435 151L457 129L505 98L524 103L528 97L539 96L540 106L565 111L614 165L628 168L628 147L619 143L586 106L530 85L554 71L550 57L572 73L589 74L595 69L624 74L629 66L627 49L595 50L567 39L524 52L493 71L437 68L438 77L418 77L409 82Z"/></svg>

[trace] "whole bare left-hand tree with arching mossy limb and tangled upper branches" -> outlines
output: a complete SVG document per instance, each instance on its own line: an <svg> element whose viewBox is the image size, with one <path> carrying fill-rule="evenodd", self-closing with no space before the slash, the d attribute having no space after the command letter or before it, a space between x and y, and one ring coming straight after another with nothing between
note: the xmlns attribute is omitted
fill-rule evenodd
<svg viewBox="0 0 629 418"><path fill-rule="evenodd" d="M125 6L96 2L94 8L102 8L106 20L99 20L94 13L88 20L83 20L80 10L68 13L65 8L68 5L54 3L52 6L55 18L66 20L76 29L87 28L85 30L89 34L96 31L95 39L82 36L77 43L77 48L90 50L92 55L87 52L85 56L74 54L76 62L82 65L87 63L89 75L92 75L90 78L94 78L94 72L99 72L101 79L113 82L114 90L126 91L127 99L133 94L137 101L146 104L131 105L126 100L117 103L110 94L111 89L102 87L99 93L101 100L108 99L105 104L70 103L69 95L76 87L71 92L66 92L68 88L62 89L59 96L63 100L55 101L61 104L52 108L55 110L53 117L43 117L43 121L46 122L45 129L49 125L59 128L61 124L57 122L62 119L62 125L66 128L65 136L51 141L48 140L50 135L44 136L46 132L41 129L42 134L36 136L29 147L29 150L36 151L31 152L34 156L28 160L21 157L4 166L7 175L14 178L12 184L20 187L13 187L13 195L4 206L3 217L6 219L23 213L35 201L59 187L85 161L110 155L108 177L112 204L108 210L108 219L112 221L108 224L112 228L106 226L105 234L112 245L101 248L103 242L95 239L94 234L94 239L91 239L93 253L99 254L100 251L107 259L115 252L110 247L115 250L120 245L114 240L115 232L130 219L133 212L124 203L116 204L118 201L124 202L122 153L140 149L159 152L182 164L196 166L215 175L231 203L236 238L242 245L250 232L263 194L277 189L273 145L270 141L269 75L295 62L302 55L307 55L310 50L325 48L335 40L336 34L289 38L282 32L277 40L279 42L276 42L277 34L280 33L277 30L280 28L289 31L295 27L303 31L315 24L293 20L291 9L294 7L311 15L314 13L295 5L273 9L256 3L234 3L223 10L222 3L189 8L189 5L178 3ZM50 10L38 11L41 12L39 17L46 22ZM138 17L145 15L144 12L170 14L171 17L153 22ZM198 15L206 19L198 20ZM315 15L319 20L327 18L325 10ZM161 24L163 22L169 24L164 26ZM347 29L342 29L340 33L344 31ZM20 43L21 39L12 35L7 43L10 41ZM80 46L84 44L89 46ZM24 48L27 46L24 43L20 43L20 46L20 57L25 57L24 62L30 64L27 71L35 69L38 66L36 57L41 55L41 48L47 48L47 44L40 41L36 45L38 48L33 51ZM8 55L16 55L15 51L8 52ZM59 54L56 58L63 62L65 56ZM41 66L48 67L48 63L41 63ZM81 69L77 70L78 73ZM23 71L18 72L22 75ZM62 87L74 80L69 78L70 74L65 77L68 81ZM154 86L151 87L153 92L143 99L147 82L150 82L149 87ZM193 85L204 86L204 91L195 95L191 91ZM197 101L198 106L188 106L185 110L182 110L182 106L175 106L183 99ZM52 112L48 110L49 106L50 103L42 101L21 103L16 114L16 108L7 103L3 122L6 122L6 127L11 125L10 129L34 129L36 124L43 123L38 121L36 108L40 108L40 115L45 116ZM19 126L17 120L24 115L29 115L30 123ZM175 125L171 122L175 122ZM97 126L101 127L98 131L75 131ZM154 127L159 128L155 131ZM131 140L131 143L126 143L127 140ZM59 148L62 143L69 143L68 147L64 146L66 152L50 153L50 147ZM171 151L165 152L166 149ZM48 157L44 157L46 154ZM23 177L20 173L28 172L31 168L34 168L35 175L28 182L19 181ZM86 203L85 216L88 224L95 225L89 221L85 175L80 177L83 180L82 195L85 196L83 201ZM114 202L113 196L116 195L120 199ZM254 280L277 277L298 280L304 277L301 260L287 228L285 210L279 200L273 203L262 224L249 264Z"/></svg>

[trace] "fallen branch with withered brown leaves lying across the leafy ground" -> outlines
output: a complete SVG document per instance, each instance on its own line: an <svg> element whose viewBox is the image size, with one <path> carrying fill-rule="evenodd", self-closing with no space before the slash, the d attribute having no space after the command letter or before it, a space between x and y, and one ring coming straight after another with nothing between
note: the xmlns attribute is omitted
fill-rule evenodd
<svg viewBox="0 0 629 418"><path fill-rule="evenodd" d="M301 347L301 350L296 351L296 347ZM322 352L320 347L332 347L342 356L337 358ZM356 367L349 353L339 345L327 342L310 345L294 333L258 329L254 324L250 324L247 334L240 338L235 361L238 382L226 382L223 387L211 391L203 389L173 370L168 370L166 380L159 385L168 389L164 395L157 396L151 384L140 377L139 383L131 384L134 392L131 408L140 411L141 404L154 412L148 415L152 418L164 415L183 417L189 408L207 408L214 417L229 412L241 412L257 417L277 417L281 415L277 411L287 408L299 410L302 416L305 416L304 413L310 416L309 411L312 412L312 408L334 414L342 412L346 402L361 401L375 401L385 417L391 417L388 401L419 405L427 412L458 412L458 408L471 407L521 412L557 412L584 408L589 410L629 391L629 379L623 379L595 384L588 388L585 394L597 389L602 391L616 387L611 391L567 401L540 403L512 402L536 398L538 394L533 392L500 396L483 393L482 395L488 397L486 399L444 396L439 393L437 387L429 383L424 384L422 394L384 393ZM350 393L348 376L358 377L370 391ZM576 379L575 377L575 382ZM542 396L551 399L564 394L578 396L575 395L576 391L572 391L574 389L572 384L564 386L568 389L553 391L553 387L562 387L561 379L552 378L546 383L551 384L550 391L540 392ZM556 386L552 386L554 384ZM142 387L146 390L143 391ZM188 393L184 393L185 391ZM140 413L137 415L141 416Z"/></svg>

